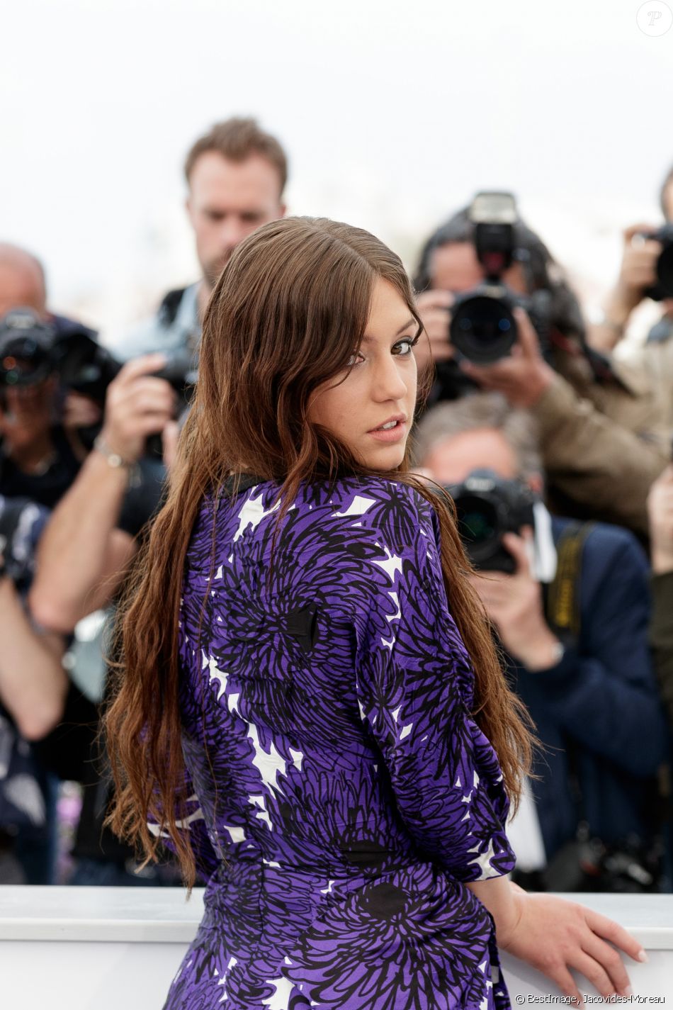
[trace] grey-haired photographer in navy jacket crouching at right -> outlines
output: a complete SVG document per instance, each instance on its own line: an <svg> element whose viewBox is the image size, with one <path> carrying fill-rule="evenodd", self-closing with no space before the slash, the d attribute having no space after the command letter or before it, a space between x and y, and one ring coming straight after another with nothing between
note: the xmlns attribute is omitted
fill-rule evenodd
<svg viewBox="0 0 673 1010"><path fill-rule="evenodd" d="M532 783L542 884L654 888L655 776L667 733L643 551L626 530L549 515L532 419L497 394L434 407L417 459L456 501L475 587L545 746Z"/></svg>

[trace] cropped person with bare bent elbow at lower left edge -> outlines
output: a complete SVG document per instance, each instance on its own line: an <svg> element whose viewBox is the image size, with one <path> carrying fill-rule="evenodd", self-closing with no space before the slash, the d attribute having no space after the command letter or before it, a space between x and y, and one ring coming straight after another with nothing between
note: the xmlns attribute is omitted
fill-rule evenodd
<svg viewBox="0 0 673 1010"><path fill-rule="evenodd" d="M0 496L0 883L49 884L55 782L33 743L61 718L63 636L35 629L24 607L46 510Z"/></svg>

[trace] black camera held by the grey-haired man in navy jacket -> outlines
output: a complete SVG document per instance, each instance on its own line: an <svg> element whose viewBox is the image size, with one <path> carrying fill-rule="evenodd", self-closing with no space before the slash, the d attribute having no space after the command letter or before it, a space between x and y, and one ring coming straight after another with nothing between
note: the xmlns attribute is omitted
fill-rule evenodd
<svg viewBox="0 0 673 1010"><path fill-rule="evenodd" d="M535 528L535 495L522 481L508 481L491 470L475 470L462 484L445 486L453 499L458 532L476 569L513 575L516 563L502 546L503 533Z"/></svg>

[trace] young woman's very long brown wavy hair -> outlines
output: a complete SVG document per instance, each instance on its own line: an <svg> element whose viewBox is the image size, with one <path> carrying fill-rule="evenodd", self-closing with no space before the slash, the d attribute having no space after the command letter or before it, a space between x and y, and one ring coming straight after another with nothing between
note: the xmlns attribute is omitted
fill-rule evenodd
<svg viewBox="0 0 673 1010"><path fill-rule="evenodd" d="M178 826L188 799L178 621L192 528L204 496L231 472L244 469L278 484L276 531L302 482L373 473L311 423L308 411L317 387L348 374L378 278L399 292L421 329L402 262L381 241L335 221L286 218L241 242L206 310L199 381L167 500L138 552L119 612L119 663L105 718L116 787L109 823L155 860L160 840L147 827L151 816L173 840L190 886L194 856ZM471 569L451 505L409 472L409 449L395 471L375 473L416 488L437 512L448 603L474 667L474 716L516 804L531 763L530 720L506 683L468 582Z"/></svg>

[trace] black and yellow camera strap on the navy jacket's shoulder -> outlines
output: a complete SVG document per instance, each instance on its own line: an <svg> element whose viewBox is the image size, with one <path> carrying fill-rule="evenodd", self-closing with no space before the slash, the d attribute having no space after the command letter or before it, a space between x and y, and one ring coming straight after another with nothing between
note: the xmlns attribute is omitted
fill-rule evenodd
<svg viewBox="0 0 673 1010"><path fill-rule="evenodd" d="M564 645L576 643L581 631L582 551L593 526L592 522L566 526L556 544L556 575L543 587L547 623Z"/></svg>

